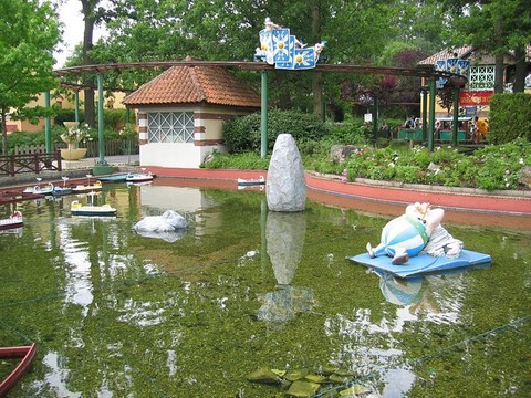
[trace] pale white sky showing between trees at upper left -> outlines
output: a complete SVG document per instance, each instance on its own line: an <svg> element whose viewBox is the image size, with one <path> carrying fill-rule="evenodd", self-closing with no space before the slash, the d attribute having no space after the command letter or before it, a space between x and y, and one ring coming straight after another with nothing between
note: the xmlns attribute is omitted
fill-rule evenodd
<svg viewBox="0 0 531 398"><path fill-rule="evenodd" d="M60 46L62 52L55 52L55 69L64 66L66 59L72 55L76 44L83 41L83 14L81 13L80 0L65 0L63 4L59 6L59 18L64 24L63 40L64 44ZM104 30L100 28L94 29L94 42L104 35Z"/></svg>

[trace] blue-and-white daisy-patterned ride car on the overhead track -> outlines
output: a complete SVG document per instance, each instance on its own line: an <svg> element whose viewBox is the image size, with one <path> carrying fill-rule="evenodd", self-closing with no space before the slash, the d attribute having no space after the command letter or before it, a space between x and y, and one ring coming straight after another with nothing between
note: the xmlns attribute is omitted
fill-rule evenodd
<svg viewBox="0 0 531 398"><path fill-rule="evenodd" d="M260 31L260 48L257 48L254 61L266 61L277 69L303 70L315 67L325 42L306 48L289 28L283 28L266 18L266 27Z"/></svg>

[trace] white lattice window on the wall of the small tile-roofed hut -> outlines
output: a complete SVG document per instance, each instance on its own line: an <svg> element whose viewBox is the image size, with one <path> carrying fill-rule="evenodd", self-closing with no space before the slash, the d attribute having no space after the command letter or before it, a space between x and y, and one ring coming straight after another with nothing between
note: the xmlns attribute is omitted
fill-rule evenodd
<svg viewBox="0 0 531 398"><path fill-rule="evenodd" d="M194 143L194 112L149 112L148 143Z"/></svg>

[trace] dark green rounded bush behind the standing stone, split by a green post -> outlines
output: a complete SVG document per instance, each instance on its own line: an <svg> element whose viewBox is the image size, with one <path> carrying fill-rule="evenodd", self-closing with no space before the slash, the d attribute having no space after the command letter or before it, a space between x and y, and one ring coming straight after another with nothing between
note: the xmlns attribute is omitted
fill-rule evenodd
<svg viewBox="0 0 531 398"><path fill-rule="evenodd" d="M230 154L260 153L261 115L253 113L233 118L223 124L223 140ZM270 109L268 115L268 147L272 149L277 136L289 133L296 143L319 140L329 133L329 127L314 115L293 111Z"/></svg>

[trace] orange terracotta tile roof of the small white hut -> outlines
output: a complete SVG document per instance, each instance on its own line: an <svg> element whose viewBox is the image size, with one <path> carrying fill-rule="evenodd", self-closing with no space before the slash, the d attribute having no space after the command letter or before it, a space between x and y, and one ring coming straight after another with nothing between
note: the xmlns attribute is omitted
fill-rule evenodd
<svg viewBox="0 0 531 398"><path fill-rule="evenodd" d="M124 98L125 105L212 104L260 107L260 95L217 66L173 66Z"/></svg>

